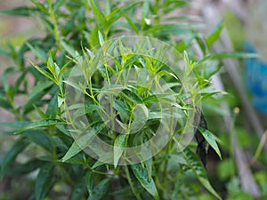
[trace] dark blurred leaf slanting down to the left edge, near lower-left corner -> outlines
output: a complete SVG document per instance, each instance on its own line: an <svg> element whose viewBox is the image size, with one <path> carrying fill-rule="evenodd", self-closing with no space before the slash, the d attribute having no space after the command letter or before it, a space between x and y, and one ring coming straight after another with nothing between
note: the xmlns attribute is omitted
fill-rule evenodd
<svg viewBox="0 0 267 200"><path fill-rule="evenodd" d="M4 172L8 169L9 165L12 164L14 159L21 153L21 151L28 146L23 140L17 141L12 148L4 155L1 161L0 180L2 179Z"/></svg>

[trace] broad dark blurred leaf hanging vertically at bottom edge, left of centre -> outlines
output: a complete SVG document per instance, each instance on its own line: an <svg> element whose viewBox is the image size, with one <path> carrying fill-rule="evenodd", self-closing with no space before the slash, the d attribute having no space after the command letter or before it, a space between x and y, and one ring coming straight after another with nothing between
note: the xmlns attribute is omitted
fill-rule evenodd
<svg viewBox="0 0 267 200"><path fill-rule="evenodd" d="M53 164L44 164L36 178L36 200L44 200L53 187Z"/></svg>

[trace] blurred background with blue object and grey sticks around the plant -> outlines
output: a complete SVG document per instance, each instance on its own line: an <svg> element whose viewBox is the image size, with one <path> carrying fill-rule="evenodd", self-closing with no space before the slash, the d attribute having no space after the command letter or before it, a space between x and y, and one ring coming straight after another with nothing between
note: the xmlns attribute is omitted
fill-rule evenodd
<svg viewBox="0 0 267 200"><path fill-rule="evenodd" d="M267 1L190 2L192 6L186 12L201 16L206 30L223 20L225 29L220 41L214 44L215 52L246 51L260 55L259 59L223 60L225 68L219 76L214 76L214 87L229 95L218 105L206 104L203 108L208 126L221 140L223 151L223 160L219 160L210 150L207 173L214 188L225 199L267 199ZM28 2L0 0L0 9L23 4ZM20 46L33 36L42 36L38 21L0 14L0 51L9 44ZM0 53L0 75L14 64ZM12 83L12 78L8 81ZM20 101L23 97L17 99L18 105ZM12 117L0 108L0 121L10 122ZM0 159L15 140L1 133L5 129L0 124ZM18 162L23 159L20 156ZM30 193L27 184L33 182L27 177L23 187L20 181L4 178L0 182L0 199L24 199L23 195Z"/></svg>

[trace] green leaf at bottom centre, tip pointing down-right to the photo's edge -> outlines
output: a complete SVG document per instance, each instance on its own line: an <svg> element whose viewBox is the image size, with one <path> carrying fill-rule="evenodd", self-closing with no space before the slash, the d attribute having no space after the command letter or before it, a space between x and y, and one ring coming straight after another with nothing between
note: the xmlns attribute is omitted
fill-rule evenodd
<svg viewBox="0 0 267 200"><path fill-rule="evenodd" d="M131 165L131 168L136 179L142 184L142 187L145 188L156 200L159 200L158 190L154 180L149 178L147 169L144 168L142 164L133 164Z"/></svg>

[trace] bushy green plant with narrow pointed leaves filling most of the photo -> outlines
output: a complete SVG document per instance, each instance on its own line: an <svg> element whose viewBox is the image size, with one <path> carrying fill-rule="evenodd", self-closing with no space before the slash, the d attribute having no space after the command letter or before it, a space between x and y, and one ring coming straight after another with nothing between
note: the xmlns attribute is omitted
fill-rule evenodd
<svg viewBox="0 0 267 200"><path fill-rule="evenodd" d="M194 153L196 144L182 143L182 136L191 132L192 139L196 107L218 93L209 87L220 70L217 60L242 55L211 53L223 24L202 36L198 19L172 14L188 5L31 0L26 7L0 10L35 17L44 28L43 37L0 49L16 64L1 76L0 106L17 119L1 123L15 141L2 158L0 177L37 172L29 197L36 200L66 193L71 200L197 199L202 186L220 199ZM28 52L34 60L26 58ZM17 78L11 85L12 75ZM19 107L18 95L28 97ZM155 148L157 154L151 156L154 147L125 150L159 134L159 127L169 138ZM199 131L221 156L214 135ZM96 136L111 148L93 146ZM22 154L29 156L19 164Z"/></svg>

